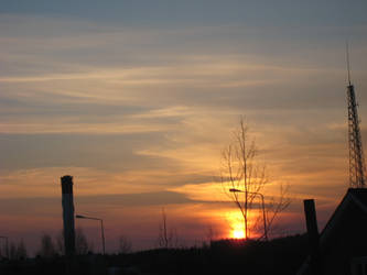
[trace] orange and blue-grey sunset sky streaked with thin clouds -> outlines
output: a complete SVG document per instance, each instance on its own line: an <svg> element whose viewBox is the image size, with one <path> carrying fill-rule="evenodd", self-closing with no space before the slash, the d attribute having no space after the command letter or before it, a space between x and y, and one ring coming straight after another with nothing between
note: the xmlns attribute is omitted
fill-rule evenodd
<svg viewBox="0 0 367 275"><path fill-rule="evenodd" d="M276 235L322 229L348 187L345 42L367 139L367 3L21 1L0 4L0 235L34 253L75 209L156 248L162 209L181 245L241 223L217 178L240 116L270 175L289 185ZM100 251L99 227L76 220Z"/></svg>

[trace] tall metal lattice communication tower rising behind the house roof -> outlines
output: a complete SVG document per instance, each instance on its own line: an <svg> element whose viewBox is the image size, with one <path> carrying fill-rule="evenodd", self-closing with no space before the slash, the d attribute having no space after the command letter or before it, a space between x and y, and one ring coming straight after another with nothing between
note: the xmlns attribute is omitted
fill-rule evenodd
<svg viewBox="0 0 367 275"><path fill-rule="evenodd" d="M353 188L365 187L365 157L361 145L361 136L359 129L359 119L356 103L356 94L350 82L349 53L348 44L346 45L347 70L348 70L348 141L349 141L349 186Z"/></svg>

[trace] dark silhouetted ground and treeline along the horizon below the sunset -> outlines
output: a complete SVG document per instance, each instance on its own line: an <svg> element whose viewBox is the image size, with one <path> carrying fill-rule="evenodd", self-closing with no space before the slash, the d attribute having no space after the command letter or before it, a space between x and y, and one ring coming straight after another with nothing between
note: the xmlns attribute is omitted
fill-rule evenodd
<svg viewBox="0 0 367 275"><path fill-rule="evenodd" d="M83 255L73 263L78 275L105 274L295 274L307 254L307 238L260 241L214 241L191 249L159 249L119 255ZM65 257L6 261L1 275L66 273Z"/></svg>

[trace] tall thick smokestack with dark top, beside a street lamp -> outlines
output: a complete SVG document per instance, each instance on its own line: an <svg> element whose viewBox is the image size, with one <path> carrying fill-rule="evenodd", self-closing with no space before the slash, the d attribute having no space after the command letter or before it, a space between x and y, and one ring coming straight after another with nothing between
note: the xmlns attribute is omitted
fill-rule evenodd
<svg viewBox="0 0 367 275"><path fill-rule="evenodd" d="M74 226L74 199L73 199L73 177L63 176L61 178L63 193L63 220L64 220L64 244L65 255L75 254L75 226Z"/></svg>

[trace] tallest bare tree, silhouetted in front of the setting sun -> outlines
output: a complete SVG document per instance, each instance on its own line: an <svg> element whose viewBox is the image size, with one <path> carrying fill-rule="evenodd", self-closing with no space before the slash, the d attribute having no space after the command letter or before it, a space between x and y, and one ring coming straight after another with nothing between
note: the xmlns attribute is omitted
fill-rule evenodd
<svg viewBox="0 0 367 275"><path fill-rule="evenodd" d="M249 215L255 210L256 202L263 212L263 235L267 238L272 229L277 216L290 204L287 197L288 188L280 186L277 197L265 198L265 187L269 184L267 168L257 160L258 150L255 140L250 138L244 117L239 120L239 127L233 133L233 142L223 151L223 167L220 182L225 193L236 204L244 217L245 238L250 238ZM266 209L261 209L262 200Z"/></svg>

